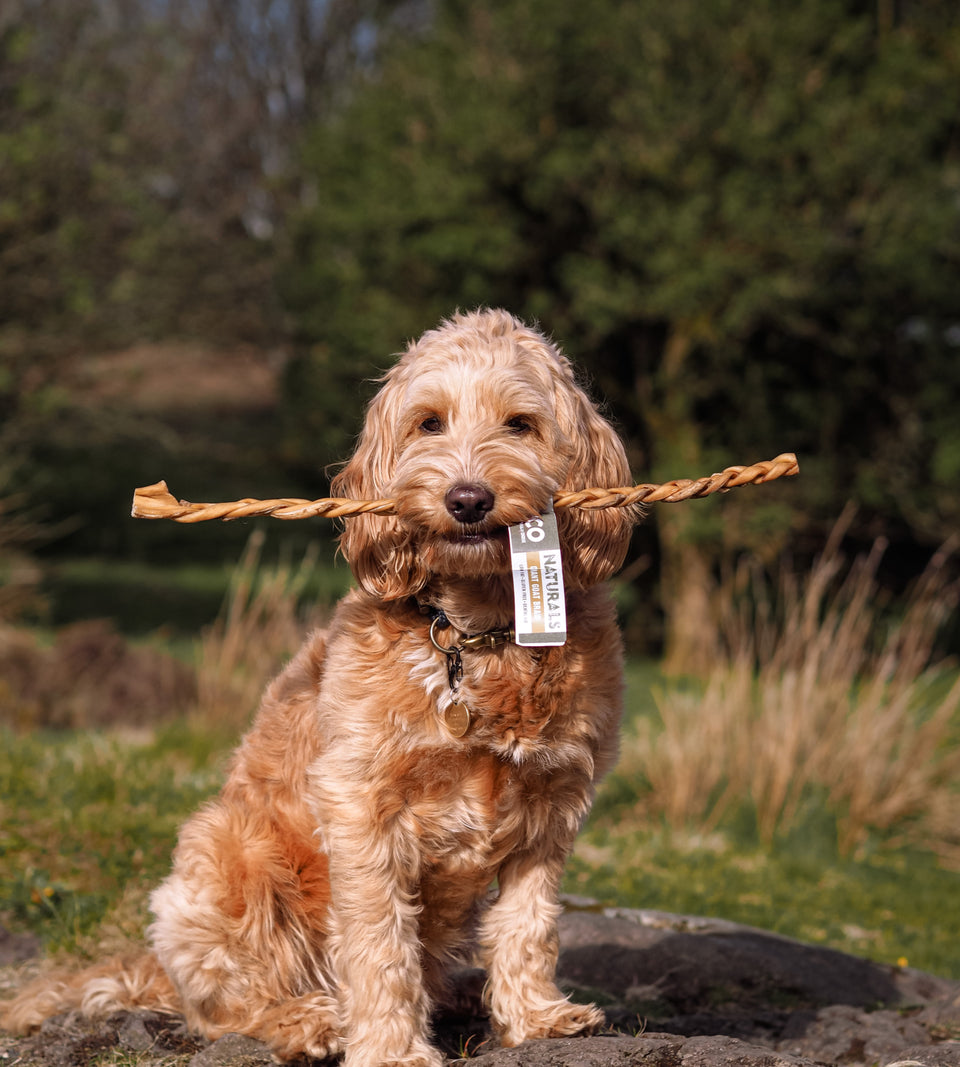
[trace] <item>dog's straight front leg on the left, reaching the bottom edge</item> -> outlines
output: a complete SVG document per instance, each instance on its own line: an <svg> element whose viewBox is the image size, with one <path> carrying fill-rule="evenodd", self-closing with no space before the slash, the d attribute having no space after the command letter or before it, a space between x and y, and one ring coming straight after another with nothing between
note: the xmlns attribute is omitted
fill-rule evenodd
<svg viewBox="0 0 960 1067"><path fill-rule="evenodd" d="M364 818L363 815L368 817ZM437 1067L419 943L419 855L402 815L329 834L334 968L345 1015L345 1067Z"/></svg>

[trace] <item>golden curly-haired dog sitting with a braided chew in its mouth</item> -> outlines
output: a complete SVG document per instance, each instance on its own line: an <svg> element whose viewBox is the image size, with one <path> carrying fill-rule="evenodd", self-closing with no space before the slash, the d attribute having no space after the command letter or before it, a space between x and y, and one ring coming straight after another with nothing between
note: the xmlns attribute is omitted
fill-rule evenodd
<svg viewBox="0 0 960 1067"><path fill-rule="evenodd" d="M421 607L447 615L450 643L509 625L506 528L558 490L628 481L620 441L540 333L479 310L412 345L334 485L395 497L397 514L346 521L359 588L269 686L223 791L183 826L151 897L153 953L42 980L4 1024L144 1005L281 1058L436 1065L431 1010L469 950L505 1045L594 1030L602 1013L554 981L557 897L615 755L622 654L598 583L637 514L561 511L569 639L465 652L463 737L442 718L446 656ZM458 487L487 509L458 520Z"/></svg>

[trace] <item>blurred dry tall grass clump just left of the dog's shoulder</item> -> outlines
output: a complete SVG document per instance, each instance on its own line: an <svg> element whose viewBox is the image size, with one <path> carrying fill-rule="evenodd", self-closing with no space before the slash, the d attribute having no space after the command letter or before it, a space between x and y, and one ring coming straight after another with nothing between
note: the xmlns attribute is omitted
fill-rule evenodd
<svg viewBox="0 0 960 1067"><path fill-rule="evenodd" d="M246 726L266 684L321 621L318 609L304 614L300 608L316 553L308 550L297 564L265 567L262 547L263 534L255 530L220 618L197 643L198 715L226 729Z"/></svg>

